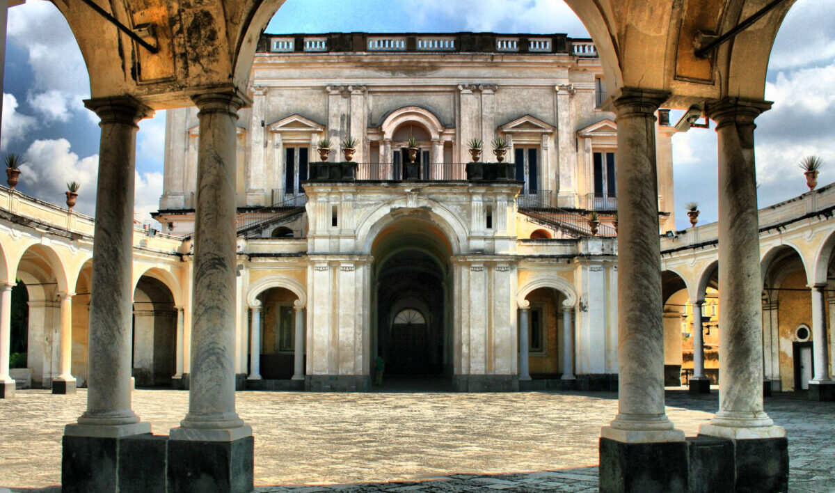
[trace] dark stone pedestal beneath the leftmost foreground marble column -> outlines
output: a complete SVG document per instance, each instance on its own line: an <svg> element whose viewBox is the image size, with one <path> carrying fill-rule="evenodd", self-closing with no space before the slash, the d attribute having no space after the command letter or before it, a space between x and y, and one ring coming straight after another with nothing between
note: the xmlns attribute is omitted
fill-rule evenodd
<svg viewBox="0 0 835 493"><path fill-rule="evenodd" d="M165 493L167 436L63 437L63 493Z"/></svg>

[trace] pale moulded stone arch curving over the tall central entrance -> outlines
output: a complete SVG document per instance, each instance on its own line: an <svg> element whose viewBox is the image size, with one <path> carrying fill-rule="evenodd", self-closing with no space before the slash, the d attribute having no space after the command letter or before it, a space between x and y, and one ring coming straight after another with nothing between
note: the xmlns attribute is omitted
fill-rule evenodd
<svg viewBox="0 0 835 493"><path fill-rule="evenodd" d="M459 217L448 206L418 196L414 205L408 205L407 199L396 198L383 202L372 211L367 212L357 221L357 238L365 238L362 245L362 252L370 254L372 245L377 239L380 231L391 226L394 221L406 216L412 216L424 221L430 221L438 225L443 235L449 241L452 255L462 253L462 245L467 244L468 226L463 218Z"/></svg>

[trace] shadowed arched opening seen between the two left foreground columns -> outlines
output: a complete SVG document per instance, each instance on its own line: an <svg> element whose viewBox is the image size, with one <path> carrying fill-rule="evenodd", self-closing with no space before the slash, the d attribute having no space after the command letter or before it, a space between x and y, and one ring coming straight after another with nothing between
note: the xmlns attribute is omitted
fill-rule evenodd
<svg viewBox="0 0 835 493"><path fill-rule="evenodd" d="M139 277L134 291L133 375L137 387L170 387L176 372L177 310L164 282Z"/></svg>

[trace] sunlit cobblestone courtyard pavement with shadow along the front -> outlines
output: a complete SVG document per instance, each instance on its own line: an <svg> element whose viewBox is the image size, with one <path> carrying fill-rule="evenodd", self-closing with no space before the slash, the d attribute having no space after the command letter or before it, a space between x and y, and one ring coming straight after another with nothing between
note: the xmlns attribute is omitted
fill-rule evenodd
<svg viewBox="0 0 835 493"><path fill-rule="evenodd" d="M79 389L0 400L0 485L60 483L63 425L85 399ZM574 392L240 392L237 403L256 435L259 492L595 491L600 426L617 412L616 394ZM668 391L667 405L676 426L695 435L718 403L716 392ZM134 410L157 434L187 407L186 392L134 393ZM835 403L782 394L767 398L766 410L787 429L790 490L835 491Z"/></svg>

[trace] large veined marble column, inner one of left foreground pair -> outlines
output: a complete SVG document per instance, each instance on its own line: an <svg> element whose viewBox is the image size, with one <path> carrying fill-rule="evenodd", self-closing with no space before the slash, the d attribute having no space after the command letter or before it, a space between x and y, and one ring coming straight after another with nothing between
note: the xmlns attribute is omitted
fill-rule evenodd
<svg viewBox="0 0 835 493"><path fill-rule="evenodd" d="M199 109L189 412L170 440L252 435L235 413L235 123L245 96L194 96Z"/></svg>

